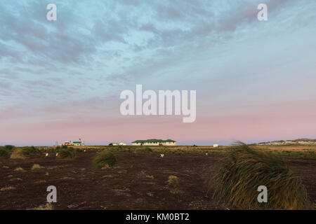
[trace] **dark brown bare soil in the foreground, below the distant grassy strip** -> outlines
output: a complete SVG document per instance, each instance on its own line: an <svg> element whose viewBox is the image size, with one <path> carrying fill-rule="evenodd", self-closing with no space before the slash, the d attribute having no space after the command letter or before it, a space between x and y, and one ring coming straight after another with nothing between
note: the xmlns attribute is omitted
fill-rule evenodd
<svg viewBox="0 0 316 224"><path fill-rule="evenodd" d="M94 169L96 152L71 160L36 155L24 160L0 158L0 209L34 209L46 204L46 188L57 188L54 209L220 209L207 195L206 180L222 155L115 153L118 167ZM316 203L316 160L285 158ZM34 164L42 169L31 170ZM15 170L21 167L23 170ZM166 187L178 176L178 192Z"/></svg>

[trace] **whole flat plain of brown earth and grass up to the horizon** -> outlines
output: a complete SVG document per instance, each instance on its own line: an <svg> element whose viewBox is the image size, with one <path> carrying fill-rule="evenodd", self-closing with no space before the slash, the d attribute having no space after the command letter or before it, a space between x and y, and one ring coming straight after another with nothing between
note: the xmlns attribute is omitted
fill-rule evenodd
<svg viewBox="0 0 316 224"><path fill-rule="evenodd" d="M253 147L281 155L316 203L315 145ZM7 147L0 157L0 209L46 207L51 185L58 189L58 202L49 209L234 209L213 201L208 181L235 147L146 148L74 146L67 149L74 157L61 159L55 147ZM103 151L111 151L117 165L93 166ZM12 153L23 156L11 158Z"/></svg>

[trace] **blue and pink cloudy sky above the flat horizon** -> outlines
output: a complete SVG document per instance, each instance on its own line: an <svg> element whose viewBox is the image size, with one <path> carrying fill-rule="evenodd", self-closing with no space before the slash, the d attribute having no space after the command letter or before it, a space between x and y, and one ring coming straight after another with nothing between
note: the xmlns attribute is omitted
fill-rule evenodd
<svg viewBox="0 0 316 224"><path fill-rule="evenodd" d="M313 0L0 1L0 145L316 139L315 36ZM195 122L123 116L137 84L196 90Z"/></svg>

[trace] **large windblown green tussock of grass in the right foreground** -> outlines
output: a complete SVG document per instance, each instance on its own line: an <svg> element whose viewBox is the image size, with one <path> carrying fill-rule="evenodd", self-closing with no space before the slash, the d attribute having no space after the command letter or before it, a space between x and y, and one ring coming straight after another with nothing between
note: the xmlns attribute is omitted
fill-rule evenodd
<svg viewBox="0 0 316 224"><path fill-rule="evenodd" d="M268 202L257 200L258 186ZM233 209L313 209L300 179L274 153L238 143L210 181L213 200Z"/></svg>

